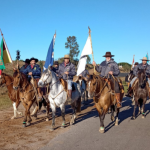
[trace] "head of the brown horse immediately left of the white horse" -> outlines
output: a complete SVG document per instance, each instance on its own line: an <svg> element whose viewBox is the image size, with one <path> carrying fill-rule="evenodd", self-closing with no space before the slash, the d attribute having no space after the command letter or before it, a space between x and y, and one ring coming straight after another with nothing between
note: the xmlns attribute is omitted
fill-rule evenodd
<svg viewBox="0 0 150 150"><path fill-rule="evenodd" d="M13 78L14 78L13 89L17 90L20 87L22 80L22 74L18 69L14 71Z"/></svg>

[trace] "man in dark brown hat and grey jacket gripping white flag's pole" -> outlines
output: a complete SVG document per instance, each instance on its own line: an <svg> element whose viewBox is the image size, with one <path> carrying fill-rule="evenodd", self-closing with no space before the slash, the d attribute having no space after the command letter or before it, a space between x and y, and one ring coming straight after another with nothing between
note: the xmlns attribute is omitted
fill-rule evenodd
<svg viewBox="0 0 150 150"><path fill-rule="evenodd" d="M114 77L117 77L120 74L120 70L118 64L112 59L114 55L111 55L111 52L106 52L103 56L106 58L99 66L96 65L95 61L93 61L93 65L97 72L100 72L100 76L103 78L109 78L115 84L115 98L117 101L117 108L121 107L121 96L119 83L115 80Z"/></svg>

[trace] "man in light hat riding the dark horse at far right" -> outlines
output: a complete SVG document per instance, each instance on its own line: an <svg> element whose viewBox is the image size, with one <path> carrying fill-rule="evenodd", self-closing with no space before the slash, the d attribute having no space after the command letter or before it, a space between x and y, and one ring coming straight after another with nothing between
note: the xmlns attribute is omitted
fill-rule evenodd
<svg viewBox="0 0 150 150"><path fill-rule="evenodd" d="M142 60L142 63L138 64L137 66L135 66L133 68L133 74L135 75L135 77L130 82L128 93L126 95L128 97L131 97L132 90L133 90L132 85L135 82L135 80L137 79L137 74L140 69L146 70L146 79L147 79L149 87L150 87L150 79L148 78L148 75L150 75L150 65L147 64L147 61L149 61L149 60L147 60L147 57L143 57L143 59L141 59L141 60ZM150 94L150 91L149 91L149 94Z"/></svg>

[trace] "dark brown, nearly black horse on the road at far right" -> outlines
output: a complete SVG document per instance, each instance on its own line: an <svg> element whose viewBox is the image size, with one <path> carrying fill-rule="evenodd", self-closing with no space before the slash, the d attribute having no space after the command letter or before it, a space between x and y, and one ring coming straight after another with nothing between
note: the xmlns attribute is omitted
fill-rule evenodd
<svg viewBox="0 0 150 150"><path fill-rule="evenodd" d="M139 106L139 113L142 113L142 118L145 118L145 103L149 96L149 85L146 82L145 70L141 69L138 72L138 79L135 81L133 88L133 95L135 100L134 111L132 119L135 119L135 110L137 105ZM141 109L142 107L142 109Z"/></svg>

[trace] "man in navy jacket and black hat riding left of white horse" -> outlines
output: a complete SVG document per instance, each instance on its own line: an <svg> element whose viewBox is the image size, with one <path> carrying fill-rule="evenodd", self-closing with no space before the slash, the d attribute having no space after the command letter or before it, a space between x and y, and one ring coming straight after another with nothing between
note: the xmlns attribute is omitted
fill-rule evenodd
<svg viewBox="0 0 150 150"><path fill-rule="evenodd" d="M41 89L38 88L38 81L41 77L41 68L38 64L36 64L38 62L38 59L32 57L30 59L30 64L27 66L27 68L25 68L22 73L24 73L25 75L27 75L28 77L28 81L31 81L31 76L33 76L33 78L36 81L36 88L38 91L38 95L39 95L39 99L41 99L42 95L41 95ZM35 83L35 82L34 82Z"/></svg>

